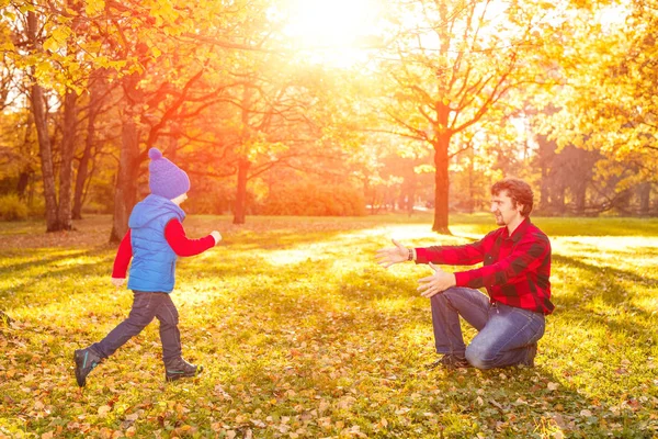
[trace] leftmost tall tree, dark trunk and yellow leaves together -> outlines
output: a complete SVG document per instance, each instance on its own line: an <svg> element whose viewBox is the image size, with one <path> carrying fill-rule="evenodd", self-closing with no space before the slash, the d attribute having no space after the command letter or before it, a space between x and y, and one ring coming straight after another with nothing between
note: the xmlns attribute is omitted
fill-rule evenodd
<svg viewBox="0 0 658 439"><path fill-rule="evenodd" d="M81 60L88 30L80 20L80 3L10 3L3 24L13 26L8 57L27 72L32 121L37 133L48 232L72 228L73 156L78 126L78 95L89 63ZM13 20L13 21L11 21ZM7 26L11 29L11 26ZM24 36L21 31L24 30ZM53 111L53 109L56 109ZM61 126L56 127L56 112ZM60 142L55 133L60 132ZM58 155L59 167L55 169ZM58 184L55 178L59 177ZM57 190L59 193L57 193ZM57 196L59 195L59 196Z"/></svg>

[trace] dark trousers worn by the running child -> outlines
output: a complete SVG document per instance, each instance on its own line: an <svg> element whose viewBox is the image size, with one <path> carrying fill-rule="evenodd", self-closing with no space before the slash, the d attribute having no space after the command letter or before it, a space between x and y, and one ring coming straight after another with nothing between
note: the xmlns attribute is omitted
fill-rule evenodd
<svg viewBox="0 0 658 439"><path fill-rule="evenodd" d="M113 354L131 338L141 333L155 317L160 320L162 360L167 363L181 357L181 333L178 311L167 293L133 291L133 308L128 318L118 324L100 342L91 346L101 357Z"/></svg>

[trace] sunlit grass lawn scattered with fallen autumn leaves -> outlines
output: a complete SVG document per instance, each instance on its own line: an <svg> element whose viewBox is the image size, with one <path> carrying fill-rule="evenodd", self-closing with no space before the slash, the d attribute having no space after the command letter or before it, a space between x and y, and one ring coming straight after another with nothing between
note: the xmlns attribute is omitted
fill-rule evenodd
<svg viewBox="0 0 658 439"><path fill-rule="evenodd" d="M192 216L189 236L224 244L180 260L173 300L185 358L167 384L157 323L75 383L72 351L127 315L106 216L78 232L35 222L0 230L0 438L658 437L658 221L536 218L552 237L553 299L536 368L428 372L435 358L430 271L374 262L407 245L464 244L494 225L427 215ZM467 338L474 335L466 329Z"/></svg>

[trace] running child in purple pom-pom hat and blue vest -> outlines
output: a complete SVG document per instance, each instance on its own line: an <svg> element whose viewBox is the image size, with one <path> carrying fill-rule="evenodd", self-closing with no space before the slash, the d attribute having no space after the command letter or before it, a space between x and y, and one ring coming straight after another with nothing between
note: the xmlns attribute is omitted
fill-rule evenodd
<svg viewBox="0 0 658 439"><path fill-rule="evenodd" d="M178 256L198 255L219 243L219 232L212 232L201 239L189 239L182 226L185 213L179 206L188 199L190 179L178 166L162 157L156 148L148 151L150 195L139 202L128 221L128 232L121 241L112 283L125 282L131 258L128 288L133 290L133 308L123 320L100 342L73 354L76 380L80 387L87 375L105 358L157 317L160 320L160 340L167 381L194 376L203 370L181 357L181 336L178 329L179 314L169 293L173 290L175 260Z"/></svg>

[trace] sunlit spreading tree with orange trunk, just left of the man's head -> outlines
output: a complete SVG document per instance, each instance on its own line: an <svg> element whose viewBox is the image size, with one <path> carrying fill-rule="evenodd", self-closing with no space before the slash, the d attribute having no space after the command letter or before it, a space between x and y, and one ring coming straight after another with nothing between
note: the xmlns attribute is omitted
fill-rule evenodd
<svg viewBox="0 0 658 439"><path fill-rule="evenodd" d="M535 65L533 55L544 43L537 31L542 14L517 2L399 4L390 19L394 38L379 58L389 87L385 95L393 98L381 105L392 132L434 149L432 229L450 233L452 140L488 112L504 109L510 91L548 80L548 69Z"/></svg>

